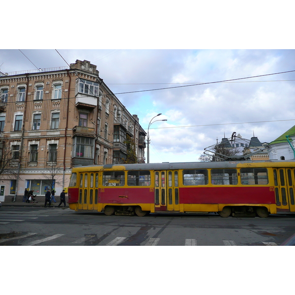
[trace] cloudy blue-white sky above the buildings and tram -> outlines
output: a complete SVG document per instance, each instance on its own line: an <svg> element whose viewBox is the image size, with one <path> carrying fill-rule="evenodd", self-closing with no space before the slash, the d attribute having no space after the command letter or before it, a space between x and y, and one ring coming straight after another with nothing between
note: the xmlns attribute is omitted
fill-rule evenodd
<svg viewBox="0 0 295 295"><path fill-rule="evenodd" d="M198 161L233 132L271 142L295 125L295 50L0 50L0 71L97 65L99 76L147 131L150 162ZM211 83L204 85L195 85ZM185 87L180 87L185 86ZM159 90L153 90L159 89Z"/></svg>

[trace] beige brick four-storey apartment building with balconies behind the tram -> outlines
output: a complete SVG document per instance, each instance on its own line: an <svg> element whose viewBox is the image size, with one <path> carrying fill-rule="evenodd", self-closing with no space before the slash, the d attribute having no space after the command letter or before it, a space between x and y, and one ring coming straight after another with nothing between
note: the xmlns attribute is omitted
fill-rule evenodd
<svg viewBox="0 0 295 295"><path fill-rule="evenodd" d="M119 164L135 142L145 162L146 132L99 77L96 65L0 75L0 201L20 201L25 188L44 201L59 196L77 165Z"/></svg>

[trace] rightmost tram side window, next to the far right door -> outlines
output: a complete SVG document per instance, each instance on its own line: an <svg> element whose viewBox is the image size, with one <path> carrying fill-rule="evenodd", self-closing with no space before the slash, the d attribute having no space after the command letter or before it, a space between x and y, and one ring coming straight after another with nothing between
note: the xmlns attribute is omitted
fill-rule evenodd
<svg viewBox="0 0 295 295"><path fill-rule="evenodd" d="M266 168L241 168L241 183L242 184L267 184L268 176Z"/></svg>

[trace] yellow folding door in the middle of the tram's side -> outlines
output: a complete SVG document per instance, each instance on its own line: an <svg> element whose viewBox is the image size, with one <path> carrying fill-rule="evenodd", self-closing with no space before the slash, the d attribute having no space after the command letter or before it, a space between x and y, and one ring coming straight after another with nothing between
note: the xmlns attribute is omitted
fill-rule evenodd
<svg viewBox="0 0 295 295"><path fill-rule="evenodd" d="M155 171L155 211L179 211L178 171Z"/></svg>

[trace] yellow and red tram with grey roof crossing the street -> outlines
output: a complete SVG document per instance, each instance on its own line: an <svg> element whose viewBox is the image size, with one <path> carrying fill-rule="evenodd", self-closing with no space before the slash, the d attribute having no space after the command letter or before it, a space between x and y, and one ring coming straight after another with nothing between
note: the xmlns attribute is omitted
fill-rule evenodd
<svg viewBox="0 0 295 295"><path fill-rule="evenodd" d="M69 207L106 215L295 212L295 161L222 161L75 167Z"/></svg>

